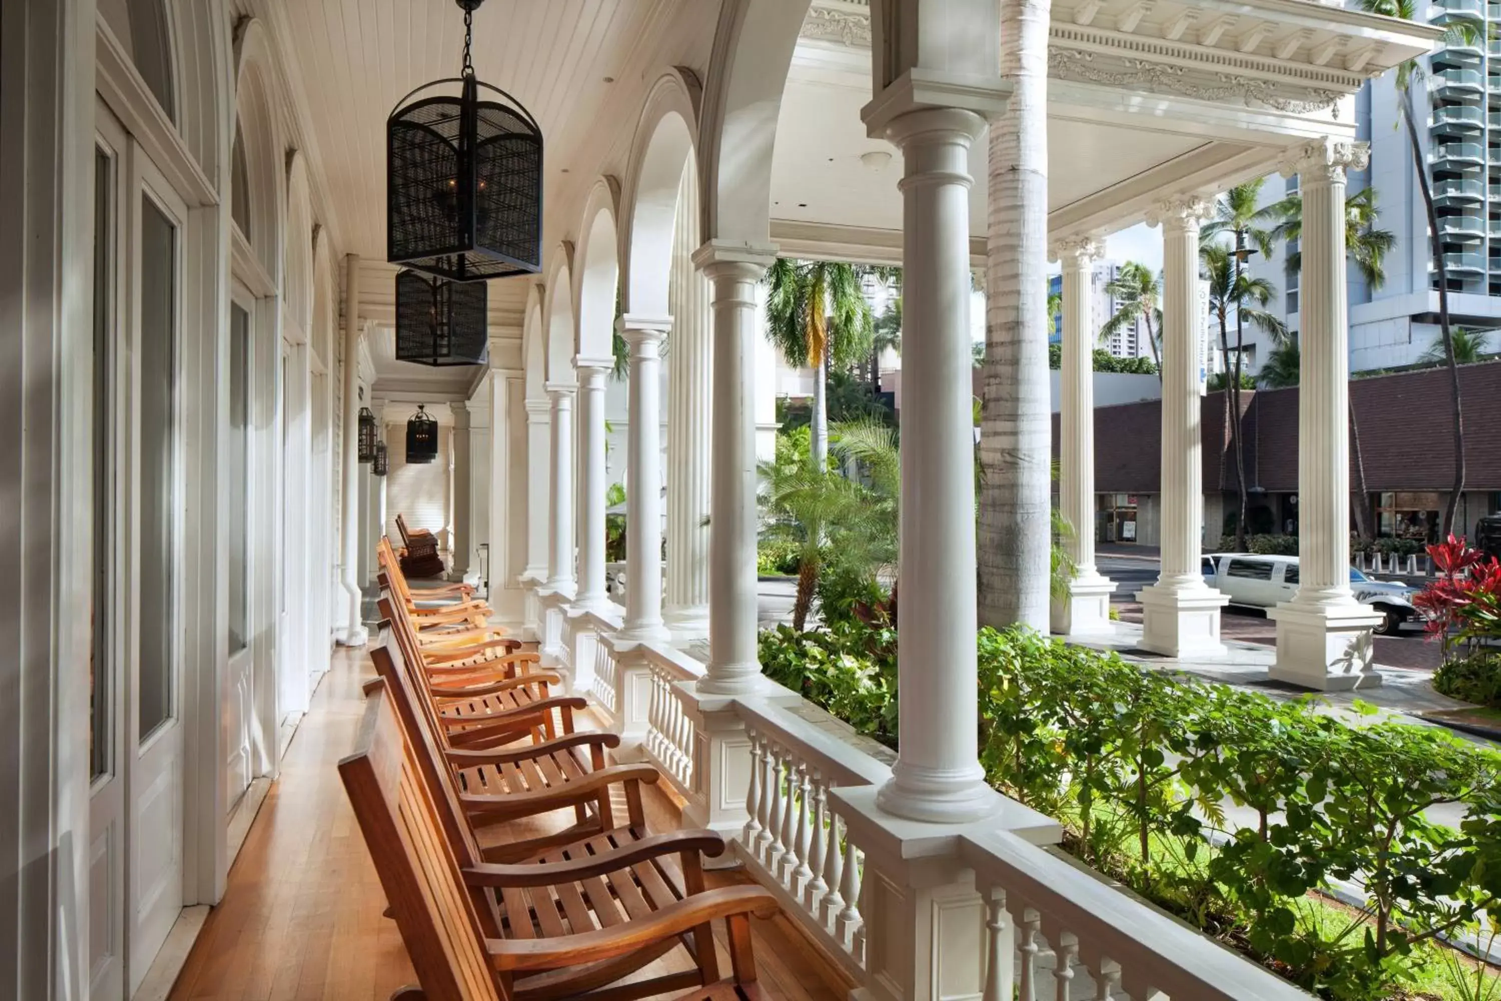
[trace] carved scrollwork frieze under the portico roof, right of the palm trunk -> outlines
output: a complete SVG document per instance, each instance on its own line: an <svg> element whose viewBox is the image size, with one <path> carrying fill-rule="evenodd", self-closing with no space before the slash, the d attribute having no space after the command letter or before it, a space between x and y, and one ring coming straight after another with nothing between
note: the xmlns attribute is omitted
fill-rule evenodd
<svg viewBox="0 0 1501 1001"><path fill-rule="evenodd" d="M1174 66L1130 56L1106 56L1076 48L1051 48L1048 51L1049 77L1105 87L1129 87L1150 93L1169 93L1195 101L1223 104L1238 101L1247 108L1265 107L1288 114L1309 114L1328 110L1339 119L1339 99L1334 90L1304 90L1301 96L1280 93L1276 84L1265 80L1238 77L1235 74L1193 72L1189 66Z"/></svg>

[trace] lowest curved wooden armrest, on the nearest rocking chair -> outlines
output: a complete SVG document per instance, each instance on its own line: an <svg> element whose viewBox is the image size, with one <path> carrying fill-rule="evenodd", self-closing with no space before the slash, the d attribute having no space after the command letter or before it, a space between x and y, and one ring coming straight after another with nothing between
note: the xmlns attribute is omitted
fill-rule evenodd
<svg viewBox="0 0 1501 1001"><path fill-rule="evenodd" d="M500 971L555 969L624 956L719 918L740 914L769 918L776 911L776 897L761 887L723 887L695 893L624 924L557 938L491 938L485 947Z"/></svg>

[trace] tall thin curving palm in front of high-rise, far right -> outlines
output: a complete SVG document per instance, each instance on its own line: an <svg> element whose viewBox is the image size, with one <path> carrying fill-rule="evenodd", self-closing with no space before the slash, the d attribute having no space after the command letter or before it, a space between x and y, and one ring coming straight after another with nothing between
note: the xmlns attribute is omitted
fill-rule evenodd
<svg viewBox="0 0 1501 1001"><path fill-rule="evenodd" d="M1417 0L1358 0L1357 5L1367 14L1382 14L1390 18L1418 21L1426 15L1427 6L1418 6ZM1475 45L1483 29L1472 21L1451 21L1444 27L1442 45ZM1444 354L1448 362L1448 398L1454 417L1454 482L1448 491L1448 507L1444 510L1444 524L1439 536L1453 531L1454 519L1459 515L1459 498L1465 489L1465 410L1459 396L1459 362L1454 357L1454 332L1448 326L1448 270L1444 264L1444 245L1439 240L1438 209L1433 206L1433 183L1423 162L1423 141L1417 131L1417 110L1412 105L1412 83L1423 75L1423 68L1415 59L1397 66L1397 92L1402 99L1397 107L1402 110L1402 125L1406 129L1408 147L1412 153L1412 168L1417 171L1418 191L1423 195L1423 209L1427 212L1429 252L1433 257L1433 275L1438 279L1438 333L1444 342Z"/></svg>

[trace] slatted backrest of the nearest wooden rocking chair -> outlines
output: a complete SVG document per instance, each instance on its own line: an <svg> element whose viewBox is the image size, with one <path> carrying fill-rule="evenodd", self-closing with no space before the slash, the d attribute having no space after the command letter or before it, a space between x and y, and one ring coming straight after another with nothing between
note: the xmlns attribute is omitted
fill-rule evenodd
<svg viewBox="0 0 1501 1001"><path fill-rule="evenodd" d="M426 1001L510 1001L386 692L372 686L344 789Z"/></svg>

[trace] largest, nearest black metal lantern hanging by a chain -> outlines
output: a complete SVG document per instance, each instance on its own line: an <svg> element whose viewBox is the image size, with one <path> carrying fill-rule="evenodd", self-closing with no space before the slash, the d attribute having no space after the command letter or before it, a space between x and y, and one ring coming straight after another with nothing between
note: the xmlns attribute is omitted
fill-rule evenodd
<svg viewBox="0 0 1501 1001"><path fill-rule="evenodd" d="M386 120L386 258L456 282L542 270L542 129L519 101L474 78L480 3L458 0L461 75L417 87ZM455 83L458 98L413 101ZM480 87L503 101L480 101Z"/></svg>

